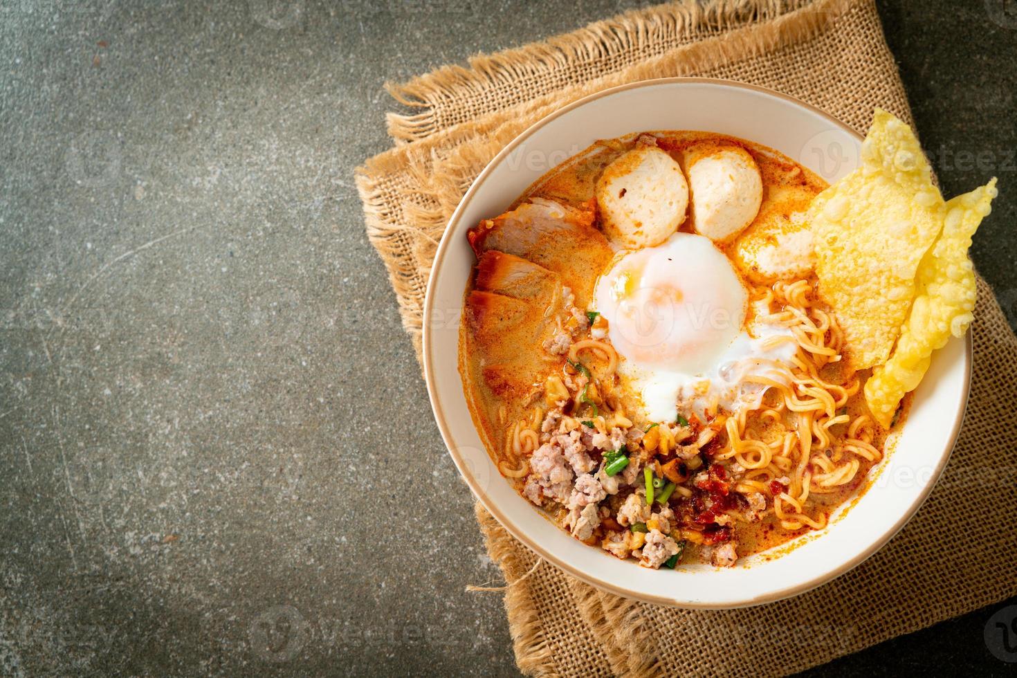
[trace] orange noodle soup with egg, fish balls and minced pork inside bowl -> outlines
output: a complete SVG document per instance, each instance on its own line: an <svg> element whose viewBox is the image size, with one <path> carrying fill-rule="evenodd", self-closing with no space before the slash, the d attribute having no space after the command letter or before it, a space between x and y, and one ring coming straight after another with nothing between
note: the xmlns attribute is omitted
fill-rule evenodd
<svg viewBox="0 0 1017 678"><path fill-rule="evenodd" d="M888 434L816 294L824 188L742 139L632 134L471 229L460 372L506 482L646 567L824 528Z"/></svg>

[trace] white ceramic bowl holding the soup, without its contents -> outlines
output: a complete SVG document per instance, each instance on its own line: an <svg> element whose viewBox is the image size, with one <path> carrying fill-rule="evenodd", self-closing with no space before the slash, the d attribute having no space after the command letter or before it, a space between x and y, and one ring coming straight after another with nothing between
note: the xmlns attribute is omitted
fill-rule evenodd
<svg viewBox="0 0 1017 678"><path fill-rule="evenodd" d="M914 514L939 478L960 430L970 381L970 341L934 357L896 448L873 470L870 489L830 526L739 560L652 570L573 539L498 474L474 428L457 370L463 293L475 263L466 231L500 213L551 167L597 139L644 130L703 130L770 146L829 182L857 164L861 138L803 102L745 84L704 78L650 80L566 106L510 143L480 174L438 248L424 317L424 369L441 436L470 489L521 542L596 587L690 608L757 605L800 594L875 553ZM777 555L778 557L773 557Z"/></svg>

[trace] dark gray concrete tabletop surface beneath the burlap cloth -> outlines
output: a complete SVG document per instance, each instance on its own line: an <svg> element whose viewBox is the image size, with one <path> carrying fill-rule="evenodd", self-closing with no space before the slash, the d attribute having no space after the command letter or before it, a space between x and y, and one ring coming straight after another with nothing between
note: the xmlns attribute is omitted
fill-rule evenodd
<svg viewBox="0 0 1017 678"><path fill-rule="evenodd" d="M994 1L883 12L1013 311ZM383 80L633 4L0 0L0 675L515 673L352 173Z"/></svg>

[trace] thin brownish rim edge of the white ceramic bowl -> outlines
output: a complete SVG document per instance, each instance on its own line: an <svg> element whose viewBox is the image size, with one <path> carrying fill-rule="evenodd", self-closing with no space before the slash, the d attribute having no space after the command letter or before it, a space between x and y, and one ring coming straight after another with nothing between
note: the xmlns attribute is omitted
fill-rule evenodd
<svg viewBox="0 0 1017 678"><path fill-rule="evenodd" d="M955 415L953 426L950 429L950 434L944 441L945 451L944 453L941 454L940 460L937 464L936 468L934 469L932 479L930 480L930 482L917 494L915 499L907 507L907 509L900 515L898 520L893 526L891 526L886 532L884 532L883 535L874 540L869 545L868 548L863 549L853 558L851 558L847 562L841 564L840 566L834 569L823 570L815 575L810 576L807 579L797 584L786 587L778 591L770 592L769 594L761 596L759 598L745 600L744 602L736 605L724 605L724 606L717 606L717 605L711 605L709 603L696 603L696 602L678 604L671 598L666 598L663 596L645 595L642 593L637 593L630 590L621 589L609 580L600 579L588 572L584 572L580 569L573 567L571 564L569 564L561 558L558 558L547 549L544 549L538 544L536 544L532 539L530 539L527 536L525 531L521 530L512 520L512 518L506 513L504 513L498 507L498 505L491 500L490 497L487 496L487 493L480 487L479 483L474 478L473 474L466 472L468 465L465 463L462 455L459 453L457 446L454 444L455 441L453 439L450 426L445 421L445 415L439 404L439 399L437 396L437 389L433 377L434 368L431 364L431 346L432 346L431 325L427 321L427 318L431 317L432 305L434 303L433 290L436 287L436 281L439 276L439 271L441 270L442 260L444 259L445 254L447 253L451 246L450 243L452 239L446 236L450 234L452 228L457 224L457 222L459 222L462 213L466 210L467 205L474 198L475 194L480 189L480 186L484 183L487 176L494 170L494 168L499 163L501 163L501 161L504 160L506 156L512 153L513 150L515 150L519 145L521 145L531 135L533 135L537 130L544 127L552 120L555 120L563 115L566 115L571 111L581 106L585 106L595 100L599 100L605 97L610 97L617 93L625 91L629 89L648 87L648 86L649 87L660 86L667 84L683 84L683 83L715 84L725 87L749 89L752 91L765 94L771 97L776 97L778 99L785 100L786 102L794 106L797 106L799 108L804 108L818 116L821 116L831 125L838 127L840 130L851 135L859 142L863 138L860 134L858 134L855 130L853 130L851 127L849 127L842 121L838 120L837 118L823 111L822 109L813 106L812 104L809 104L807 102L804 102L800 99L791 97L789 95L785 95L780 91L776 91L774 89L762 87L756 84L739 82L736 80L726 80L722 78L712 78L712 77L663 77L663 78L653 78L649 80L640 80L637 82L630 82L626 84L609 87L607 89L602 89L587 97L583 97L582 99L579 99L554 111L553 113L548 114L547 116L541 118L534 124L527 127L523 132L521 132L512 141L510 141L504 146L504 148L502 148L496 156L494 156L494 158L491 159L491 161L484 167L484 169L480 172L480 174L477 175L477 178L474 179L473 182L470 184L470 188L463 195L463 198L460 200L459 205L457 205L452 217L448 219L448 222L445 225L444 233L442 233L441 240L438 243L438 248L437 251L435 252L434 260L431 264L431 274L427 283L427 290L424 298L424 307L423 307L424 322L422 327L422 334L423 334L422 362L424 368L424 380L427 385L427 395L431 404L431 410L434 414L435 422L437 423L438 430L441 434L441 439L444 442L445 448L448 451L448 454L452 456L453 461L456 464L456 468L459 471L460 476L463 478L463 480L466 481L471 492L477 498L477 500L480 501L480 503L484 506L484 508L488 512L490 512L491 515L493 515L494 518L498 521L498 523L501 525L501 527L503 527L505 530L507 530L513 537L522 542L524 545L526 545L526 547L530 549L530 551L534 552L538 557L542 558L543 560L550 562L551 564L553 564L566 574L575 576L593 587L596 587L597 589L600 589L601 591L606 591L608 593L620 596L629 600L640 600L647 603L664 605L667 607L677 607L682 609L703 609L703 610L735 609L739 607L753 607L757 605L763 605L766 603L772 603L787 598L791 598L794 596L798 596L807 591L811 591L812 589L827 583L828 581L831 581L834 578L837 578L838 576L846 573L847 571L861 564L863 561L868 560L873 554L875 554L877 551L886 546L887 542L889 542L895 535L897 535L897 533L899 533L900 530L903 529L903 527L908 522L908 520L910 520L914 516L918 508L920 508L920 506L924 503L925 499L929 498L930 493L933 491L933 489L939 482L943 474L943 470L946 468L947 463L950 460L950 456L953 453L954 446L956 445L957 438L960 434L960 430L964 421L964 415L967 411L967 403L968 403L968 397L970 395L970 386L971 386L972 343L971 343L970 331L964 334L964 340L963 340L965 343L964 351L962 352L963 360L965 362L963 370L963 384L962 384L964 392L961 398L962 400L961 407L958 408L958 411ZM498 477L500 477L500 474L498 474Z"/></svg>

